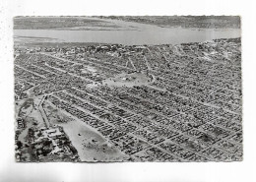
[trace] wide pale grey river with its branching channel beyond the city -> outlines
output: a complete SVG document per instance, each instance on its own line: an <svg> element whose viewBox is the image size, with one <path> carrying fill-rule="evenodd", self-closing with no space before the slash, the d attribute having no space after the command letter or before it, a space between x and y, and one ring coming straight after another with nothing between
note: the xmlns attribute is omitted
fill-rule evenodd
<svg viewBox="0 0 256 182"><path fill-rule="evenodd" d="M93 19L93 18L92 18ZM14 30L15 36L57 38L57 42L99 42L141 44L179 44L184 42L208 41L216 38L240 37L238 29L182 29L160 28L153 25L106 20L119 28L104 30ZM92 29L92 28L91 28ZM93 28L94 29L94 28Z"/></svg>

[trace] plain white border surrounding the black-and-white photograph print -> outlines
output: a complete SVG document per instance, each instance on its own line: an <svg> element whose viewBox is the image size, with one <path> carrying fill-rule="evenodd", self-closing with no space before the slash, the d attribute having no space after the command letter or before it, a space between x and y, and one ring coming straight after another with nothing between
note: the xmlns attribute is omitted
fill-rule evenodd
<svg viewBox="0 0 256 182"><path fill-rule="evenodd" d="M0 3L0 181L173 181L247 182L255 173L255 10L234 0L1 0ZM240 15L244 160L207 163L15 163L13 99L13 16L46 15Z"/></svg>

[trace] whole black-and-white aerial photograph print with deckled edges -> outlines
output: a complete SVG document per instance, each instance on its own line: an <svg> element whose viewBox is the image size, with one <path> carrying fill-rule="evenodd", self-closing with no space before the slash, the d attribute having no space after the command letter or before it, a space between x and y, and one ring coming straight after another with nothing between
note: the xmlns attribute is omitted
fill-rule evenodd
<svg viewBox="0 0 256 182"><path fill-rule="evenodd" d="M243 160L239 16L17 16L17 162Z"/></svg>

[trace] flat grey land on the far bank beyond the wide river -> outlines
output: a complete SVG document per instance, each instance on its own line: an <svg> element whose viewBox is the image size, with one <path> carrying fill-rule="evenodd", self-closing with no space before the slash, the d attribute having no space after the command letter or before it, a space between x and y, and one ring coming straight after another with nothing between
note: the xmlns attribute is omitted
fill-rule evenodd
<svg viewBox="0 0 256 182"><path fill-rule="evenodd" d="M15 17L14 30L119 28L111 22L106 22L107 19L171 28L240 29L239 16L95 16L94 18L99 20L92 20L89 17Z"/></svg>

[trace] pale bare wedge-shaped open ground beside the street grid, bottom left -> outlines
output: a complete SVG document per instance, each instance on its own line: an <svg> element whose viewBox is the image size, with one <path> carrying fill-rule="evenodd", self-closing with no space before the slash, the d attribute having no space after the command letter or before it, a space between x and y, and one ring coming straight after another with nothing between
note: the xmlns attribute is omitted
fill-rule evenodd
<svg viewBox="0 0 256 182"><path fill-rule="evenodd" d="M129 158L104 139L94 128L67 112L45 102L47 117L52 125L63 127L82 161L123 161Z"/></svg>

